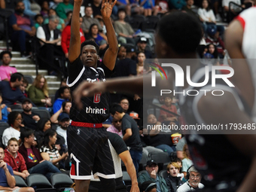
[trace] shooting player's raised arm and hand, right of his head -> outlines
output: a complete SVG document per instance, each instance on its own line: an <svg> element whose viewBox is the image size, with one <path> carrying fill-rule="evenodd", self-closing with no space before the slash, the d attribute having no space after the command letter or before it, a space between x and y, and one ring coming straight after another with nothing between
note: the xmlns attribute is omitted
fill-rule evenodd
<svg viewBox="0 0 256 192"><path fill-rule="evenodd" d="M105 27L107 29L107 37L108 37L108 50L105 51L105 55L103 58L103 63L108 69L111 71L114 69L115 61L117 59L118 45L117 45L117 37L114 32L114 27L112 26L110 16L112 13L112 8L114 7L117 0L103 0L102 1L102 18L105 23Z"/></svg>

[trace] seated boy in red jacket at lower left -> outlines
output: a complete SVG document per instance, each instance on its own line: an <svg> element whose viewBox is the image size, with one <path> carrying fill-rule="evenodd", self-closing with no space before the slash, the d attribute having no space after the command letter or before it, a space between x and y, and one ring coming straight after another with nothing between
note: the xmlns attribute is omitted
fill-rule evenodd
<svg viewBox="0 0 256 192"><path fill-rule="evenodd" d="M8 146L5 149L5 162L11 166L14 175L19 175L26 179L29 172L26 169L26 163L23 156L19 153L19 142L16 138L11 138L8 141Z"/></svg>

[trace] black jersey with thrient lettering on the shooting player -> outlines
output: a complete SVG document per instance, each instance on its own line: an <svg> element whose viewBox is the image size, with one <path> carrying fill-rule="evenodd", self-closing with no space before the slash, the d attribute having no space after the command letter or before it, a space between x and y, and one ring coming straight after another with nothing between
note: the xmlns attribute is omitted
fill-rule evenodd
<svg viewBox="0 0 256 192"><path fill-rule="evenodd" d="M93 83L96 81L105 81L112 75L104 64L94 69L93 67L84 66L80 56L78 59L69 63L69 77L67 84L70 87L71 93L81 84L82 81ZM81 99L83 108L78 110L75 102L72 102L70 109L70 119L73 121L84 123L102 123L109 117L109 93L96 93L92 97L83 97Z"/></svg>

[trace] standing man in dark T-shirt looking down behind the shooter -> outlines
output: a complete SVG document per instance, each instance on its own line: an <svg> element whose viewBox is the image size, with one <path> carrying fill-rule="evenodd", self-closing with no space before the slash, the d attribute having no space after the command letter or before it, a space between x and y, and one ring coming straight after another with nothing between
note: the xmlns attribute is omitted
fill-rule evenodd
<svg viewBox="0 0 256 192"><path fill-rule="evenodd" d="M117 103L111 105L110 113L114 119L122 121L123 141L127 147L130 147L133 164L138 172L139 161L142 159L142 142L139 139L138 125L129 114L123 112L123 108Z"/></svg>

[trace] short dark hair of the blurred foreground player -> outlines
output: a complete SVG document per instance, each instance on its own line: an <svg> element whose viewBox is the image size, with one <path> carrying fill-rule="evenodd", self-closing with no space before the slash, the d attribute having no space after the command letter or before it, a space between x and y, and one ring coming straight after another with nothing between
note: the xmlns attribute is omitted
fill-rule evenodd
<svg viewBox="0 0 256 192"><path fill-rule="evenodd" d="M175 52L193 53L200 44L202 29L196 17L177 11L162 17L157 35Z"/></svg>

